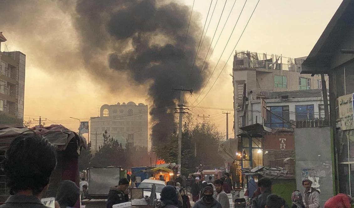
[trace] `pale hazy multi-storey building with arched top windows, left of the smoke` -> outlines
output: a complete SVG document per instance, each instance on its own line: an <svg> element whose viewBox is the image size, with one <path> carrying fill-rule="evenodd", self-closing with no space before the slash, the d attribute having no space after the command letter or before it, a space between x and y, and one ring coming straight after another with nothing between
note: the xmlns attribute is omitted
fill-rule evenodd
<svg viewBox="0 0 354 208"><path fill-rule="evenodd" d="M148 106L134 102L102 105L99 117L90 119L90 140L92 151L103 144L103 133L107 131L111 137L125 146L148 147ZM96 135L97 134L97 135ZM96 145L97 136L97 145Z"/></svg>

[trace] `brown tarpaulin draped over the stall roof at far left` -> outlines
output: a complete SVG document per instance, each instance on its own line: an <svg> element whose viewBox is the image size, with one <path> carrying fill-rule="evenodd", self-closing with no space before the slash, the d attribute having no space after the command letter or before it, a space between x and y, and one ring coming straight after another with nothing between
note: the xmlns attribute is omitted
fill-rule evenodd
<svg viewBox="0 0 354 208"><path fill-rule="evenodd" d="M87 148L86 139L84 137L79 137L78 134L70 131L68 128L62 125L51 125L47 127L38 125L28 129L19 124L3 124L0 125L0 150L7 149L11 141L15 139L19 134L29 134L33 132L48 139L48 141L55 145L59 151L65 150L69 142L76 143L78 148L81 146L85 149Z"/></svg>

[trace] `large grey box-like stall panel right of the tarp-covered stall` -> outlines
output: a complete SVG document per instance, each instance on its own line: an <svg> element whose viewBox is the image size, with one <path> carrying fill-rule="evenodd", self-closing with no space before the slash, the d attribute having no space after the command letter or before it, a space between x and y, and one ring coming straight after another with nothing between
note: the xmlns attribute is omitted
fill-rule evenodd
<svg viewBox="0 0 354 208"><path fill-rule="evenodd" d="M120 179L120 167L95 167L87 169L89 196L107 196L110 187L117 186Z"/></svg>

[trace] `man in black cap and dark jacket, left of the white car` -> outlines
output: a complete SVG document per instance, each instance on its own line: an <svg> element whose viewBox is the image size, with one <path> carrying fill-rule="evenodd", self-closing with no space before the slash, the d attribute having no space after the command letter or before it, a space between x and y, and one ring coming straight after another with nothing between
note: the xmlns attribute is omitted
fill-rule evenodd
<svg viewBox="0 0 354 208"><path fill-rule="evenodd" d="M107 208L112 208L114 204L120 204L129 201L128 197L129 180L122 178L118 186L110 188L108 193Z"/></svg>

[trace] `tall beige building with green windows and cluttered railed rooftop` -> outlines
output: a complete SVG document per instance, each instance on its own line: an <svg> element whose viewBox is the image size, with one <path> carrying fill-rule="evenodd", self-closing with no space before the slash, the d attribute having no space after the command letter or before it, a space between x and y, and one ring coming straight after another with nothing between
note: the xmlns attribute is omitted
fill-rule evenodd
<svg viewBox="0 0 354 208"><path fill-rule="evenodd" d="M285 58L277 55L236 51L233 62L235 138L245 115L242 106L252 93L252 99L269 99L271 92L320 89L320 75L300 74L306 57ZM328 79L326 76L325 79ZM279 95L281 98L281 94Z"/></svg>

